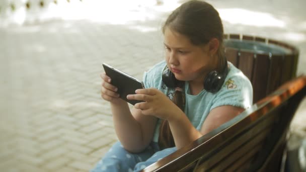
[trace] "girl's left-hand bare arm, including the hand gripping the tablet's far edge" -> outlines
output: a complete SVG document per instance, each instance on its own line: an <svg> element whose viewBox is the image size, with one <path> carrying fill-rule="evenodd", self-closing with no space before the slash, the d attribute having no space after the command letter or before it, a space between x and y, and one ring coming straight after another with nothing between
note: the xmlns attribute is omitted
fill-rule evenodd
<svg viewBox="0 0 306 172"><path fill-rule="evenodd" d="M130 111L127 103L119 98L117 88L111 78L101 74L101 97L111 103L113 123L117 137L123 147L130 152L140 152L151 141L157 118L142 115L140 110Z"/></svg>

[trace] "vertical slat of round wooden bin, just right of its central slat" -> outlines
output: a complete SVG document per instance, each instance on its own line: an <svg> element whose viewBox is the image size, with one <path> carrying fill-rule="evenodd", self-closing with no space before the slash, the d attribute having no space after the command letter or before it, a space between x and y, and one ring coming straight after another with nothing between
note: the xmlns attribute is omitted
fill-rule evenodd
<svg viewBox="0 0 306 172"><path fill-rule="evenodd" d="M281 71L283 66L282 56L273 56L270 61L270 71L267 85L267 95L272 93L279 85L281 81Z"/></svg>

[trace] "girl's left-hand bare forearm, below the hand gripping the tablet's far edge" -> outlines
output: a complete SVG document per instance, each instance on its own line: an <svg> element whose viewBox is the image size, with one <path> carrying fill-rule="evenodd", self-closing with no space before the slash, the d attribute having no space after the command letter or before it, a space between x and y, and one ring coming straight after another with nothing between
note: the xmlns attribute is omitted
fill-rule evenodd
<svg viewBox="0 0 306 172"><path fill-rule="evenodd" d="M142 149L142 133L126 102L111 103L114 128L125 149L137 152Z"/></svg>

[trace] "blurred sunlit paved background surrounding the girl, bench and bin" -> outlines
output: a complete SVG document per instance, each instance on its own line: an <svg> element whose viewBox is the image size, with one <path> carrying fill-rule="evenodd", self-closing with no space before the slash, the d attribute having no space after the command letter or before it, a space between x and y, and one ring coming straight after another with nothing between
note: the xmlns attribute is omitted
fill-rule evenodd
<svg viewBox="0 0 306 172"><path fill-rule="evenodd" d="M139 79L163 60L161 26L178 0L0 0L0 171L88 171L117 140L100 97L106 62ZM225 33L299 49L306 1L214 0ZM306 137L306 99L289 147Z"/></svg>

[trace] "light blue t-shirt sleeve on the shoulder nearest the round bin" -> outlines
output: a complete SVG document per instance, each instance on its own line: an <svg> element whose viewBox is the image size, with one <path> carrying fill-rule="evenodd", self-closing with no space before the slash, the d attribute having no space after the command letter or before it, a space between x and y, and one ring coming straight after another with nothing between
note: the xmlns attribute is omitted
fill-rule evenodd
<svg viewBox="0 0 306 172"><path fill-rule="evenodd" d="M225 105L248 109L252 104L252 84L245 75L240 74L225 79L221 90L214 97L210 111Z"/></svg>

